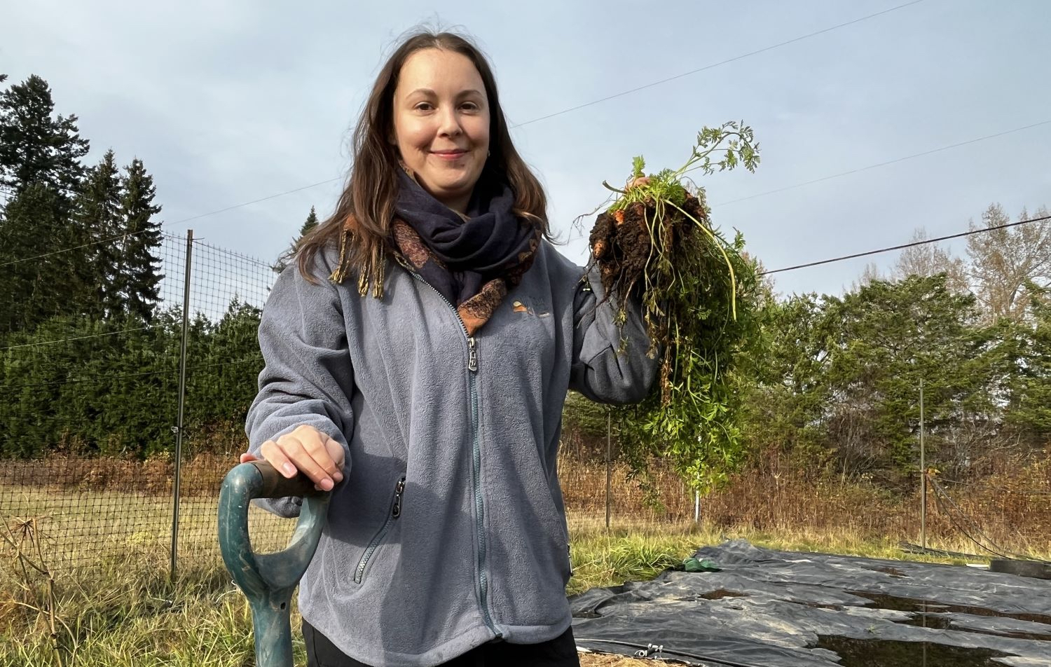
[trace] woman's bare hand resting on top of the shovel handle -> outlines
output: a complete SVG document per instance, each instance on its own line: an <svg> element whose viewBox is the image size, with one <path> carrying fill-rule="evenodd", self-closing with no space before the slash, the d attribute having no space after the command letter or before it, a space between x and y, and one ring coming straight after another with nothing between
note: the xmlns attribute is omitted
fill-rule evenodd
<svg viewBox="0 0 1051 667"><path fill-rule="evenodd" d="M310 478L318 491L332 491L343 481L346 456L343 445L317 429L302 424L276 440L267 440L260 447L263 460L291 479L297 473ZM257 460L252 454L242 454L241 462Z"/></svg>

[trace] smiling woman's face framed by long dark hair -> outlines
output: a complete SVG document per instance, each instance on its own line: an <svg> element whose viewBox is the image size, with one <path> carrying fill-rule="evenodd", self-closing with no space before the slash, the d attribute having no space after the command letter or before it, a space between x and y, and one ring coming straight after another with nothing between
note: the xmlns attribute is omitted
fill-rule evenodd
<svg viewBox="0 0 1051 667"><path fill-rule="evenodd" d="M474 63L438 48L410 56L394 90L392 139L419 185L465 212L489 154L489 99Z"/></svg>

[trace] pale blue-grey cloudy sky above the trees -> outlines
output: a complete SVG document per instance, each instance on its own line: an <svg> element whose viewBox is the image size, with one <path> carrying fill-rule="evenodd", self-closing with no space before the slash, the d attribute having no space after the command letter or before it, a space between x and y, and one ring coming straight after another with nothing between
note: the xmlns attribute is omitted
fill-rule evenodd
<svg viewBox="0 0 1051 667"><path fill-rule="evenodd" d="M754 129L761 164L698 185L767 269L963 231L994 202L1012 218L1051 206L1046 0L0 0L0 72L47 80L89 162L138 157L167 231L266 262L311 206L332 211L372 82L420 24L490 58L578 264L573 221L606 200L602 181L638 154L679 167L701 127L729 120ZM776 288L838 294L895 258L781 272Z"/></svg>

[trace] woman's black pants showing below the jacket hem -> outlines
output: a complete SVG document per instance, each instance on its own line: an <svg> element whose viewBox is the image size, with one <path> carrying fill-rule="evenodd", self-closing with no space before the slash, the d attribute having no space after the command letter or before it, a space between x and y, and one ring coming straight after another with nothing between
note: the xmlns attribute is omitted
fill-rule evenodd
<svg viewBox="0 0 1051 667"><path fill-rule="evenodd" d="M307 667L370 667L336 648L327 637L303 622L303 639L307 643ZM540 644L509 644L490 642L458 655L450 667L580 667L573 628L560 637ZM375 665L374 667L382 667Z"/></svg>

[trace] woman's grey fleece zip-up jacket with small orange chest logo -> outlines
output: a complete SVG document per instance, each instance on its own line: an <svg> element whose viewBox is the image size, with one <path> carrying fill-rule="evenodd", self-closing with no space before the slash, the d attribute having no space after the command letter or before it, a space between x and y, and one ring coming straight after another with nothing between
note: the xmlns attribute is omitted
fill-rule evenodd
<svg viewBox="0 0 1051 667"><path fill-rule="evenodd" d="M363 297L354 280L327 279L334 259L318 256L318 285L294 266L274 285L246 428L253 453L300 424L346 447L300 584L303 618L376 666L558 637L571 622L562 404L568 389L613 403L646 395L657 361L638 305L618 327L610 303L596 308L597 277L544 242L468 338L418 275L391 263L384 297ZM294 516L298 499L272 508Z"/></svg>

